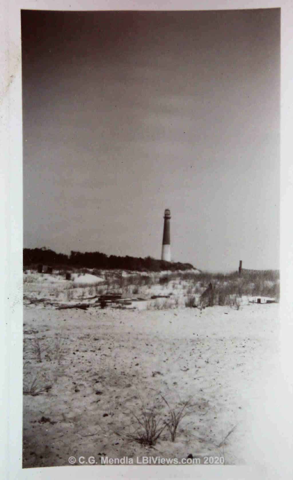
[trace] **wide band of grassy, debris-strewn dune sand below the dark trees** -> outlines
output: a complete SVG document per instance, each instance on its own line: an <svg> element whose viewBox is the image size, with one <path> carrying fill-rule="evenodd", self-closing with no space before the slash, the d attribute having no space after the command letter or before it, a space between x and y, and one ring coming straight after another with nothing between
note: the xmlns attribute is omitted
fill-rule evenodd
<svg viewBox="0 0 293 480"><path fill-rule="evenodd" d="M59 304L72 304L77 301L94 301L103 295L118 294L122 299L130 301L135 298L146 300L146 308L149 310L184 306L203 309L215 305L239 310L243 303L256 297L269 297L276 301L280 297L279 278L271 273L238 275L238 272L232 272L223 275L192 270L141 273L73 268L70 272L71 280L65 280L67 274L68 272L64 273L62 269L53 271L50 275L39 274L34 270L26 271L25 298L30 303L47 299L47 303L51 300ZM88 283L84 277L86 275L90 275L91 281ZM106 304L101 307L106 307Z"/></svg>

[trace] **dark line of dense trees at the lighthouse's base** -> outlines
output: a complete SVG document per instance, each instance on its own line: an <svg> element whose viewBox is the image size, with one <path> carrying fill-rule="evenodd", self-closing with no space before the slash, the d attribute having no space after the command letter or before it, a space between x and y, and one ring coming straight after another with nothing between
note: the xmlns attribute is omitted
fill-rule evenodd
<svg viewBox="0 0 293 480"><path fill-rule="evenodd" d="M101 252L75 252L70 255L56 253L53 250L43 248L24 248L23 263L26 268L35 267L37 264L50 265L55 268L103 268L132 271L159 272L162 270L189 270L194 268L192 264L181 262L165 262L152 257L137 258L126 255L106 255Z"/></svg>

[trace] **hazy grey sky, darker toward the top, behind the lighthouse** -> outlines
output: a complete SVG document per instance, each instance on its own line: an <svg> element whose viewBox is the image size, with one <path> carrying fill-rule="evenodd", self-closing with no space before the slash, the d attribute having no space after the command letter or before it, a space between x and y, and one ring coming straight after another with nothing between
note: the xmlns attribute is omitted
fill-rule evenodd
<svg viewBox="0 0 293 480"><path fill-rule="evenodd" d="M280 10L23 12L24 247L279 267Z"/></svg>

